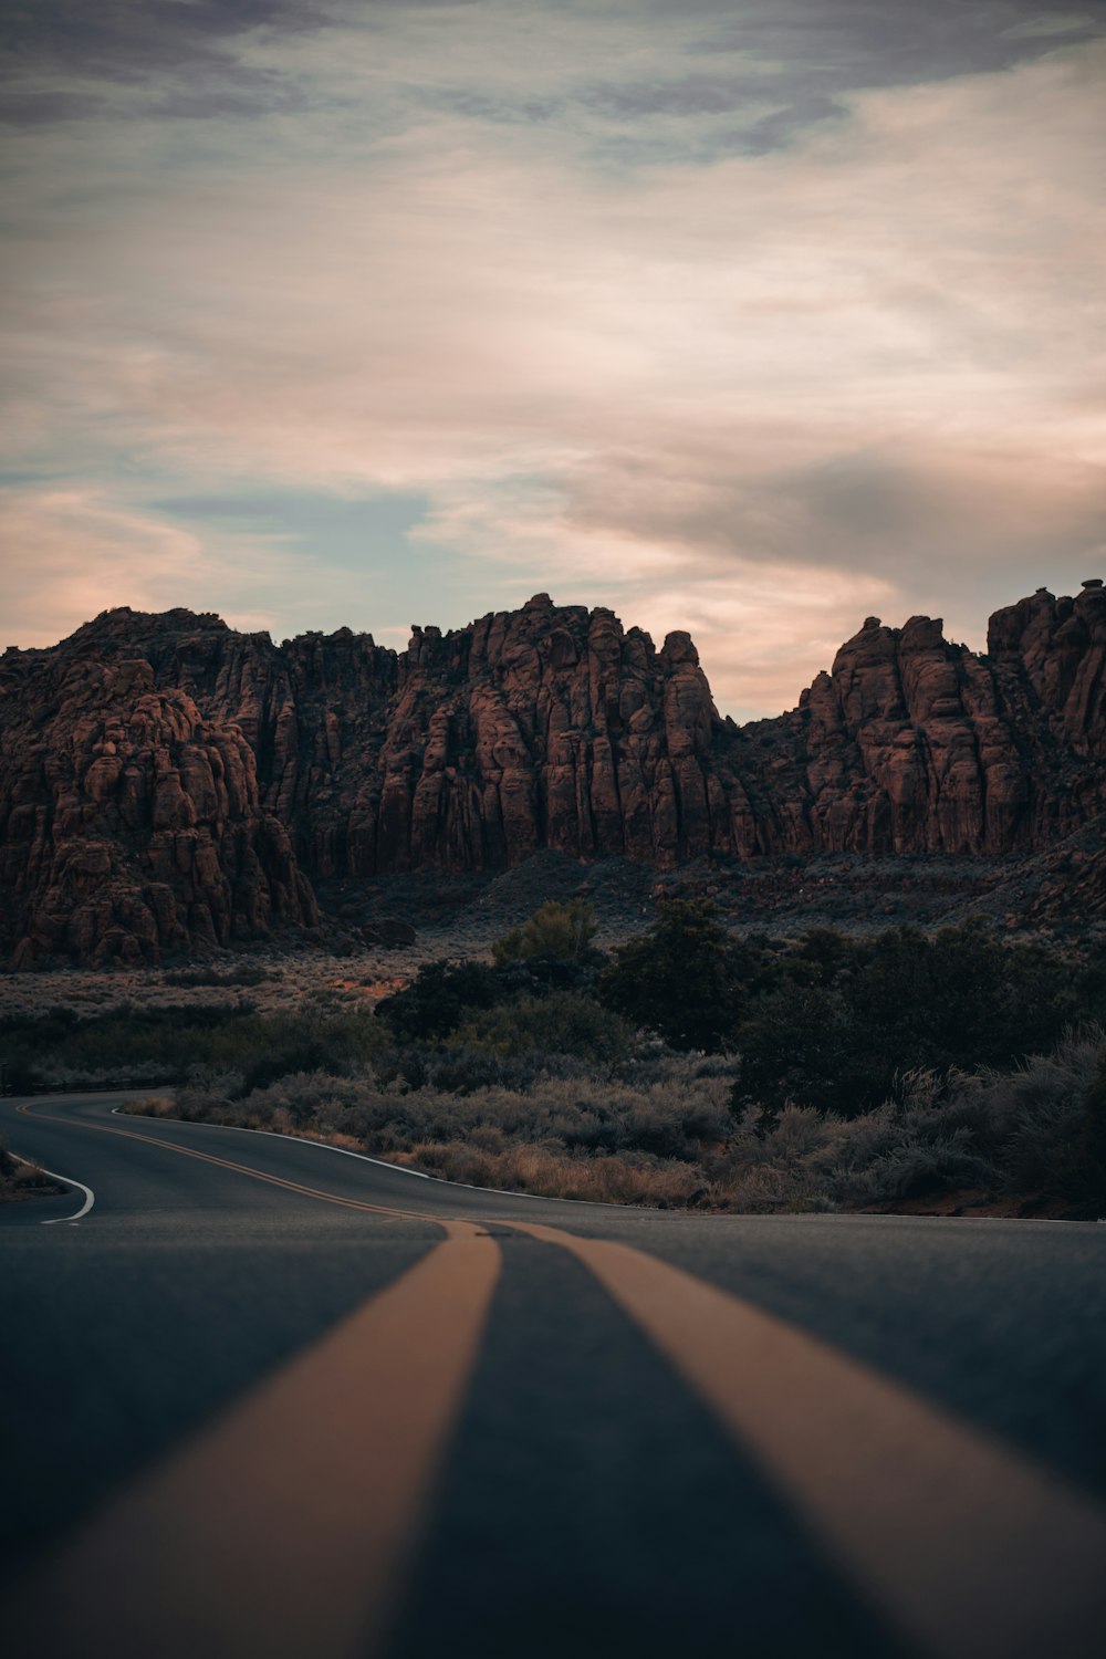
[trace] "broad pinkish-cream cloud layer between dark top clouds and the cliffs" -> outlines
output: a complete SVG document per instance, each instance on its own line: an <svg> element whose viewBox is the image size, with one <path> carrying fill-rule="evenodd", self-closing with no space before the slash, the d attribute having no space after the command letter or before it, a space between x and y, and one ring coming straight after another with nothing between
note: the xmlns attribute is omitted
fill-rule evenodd
<svg viewBox="0 0 1106 1659"><path fill-rule="evenodd" d="M366 98L424 61L297 50ZM1093 45L871 91L789 148L630 173L438 109L20 136L15 453L86 483L18 498L10 629L93 596L262 614L270 569L282 611L297 581L340 607L279 544L230 577L143 468L424 493L424 541L504 594L696 620L723 703L764 712L866 607L967 617L1098 556L1103 70Z"/></svg>

